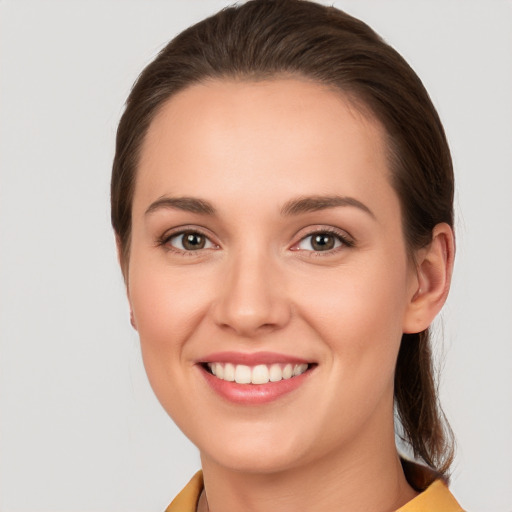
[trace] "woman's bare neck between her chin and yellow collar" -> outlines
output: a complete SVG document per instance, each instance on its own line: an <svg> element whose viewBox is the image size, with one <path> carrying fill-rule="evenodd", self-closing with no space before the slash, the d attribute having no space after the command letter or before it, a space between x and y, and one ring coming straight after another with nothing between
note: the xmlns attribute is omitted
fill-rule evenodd
<svg viewBox="0 0 512 512"><path fill-rule="evenodd" d="M272 473L234 471L201 455L205 492L198 512L390 512L416 492L407 483L394 432L373 446L361 436L350 449L331 452L293 469Z"/></svg>

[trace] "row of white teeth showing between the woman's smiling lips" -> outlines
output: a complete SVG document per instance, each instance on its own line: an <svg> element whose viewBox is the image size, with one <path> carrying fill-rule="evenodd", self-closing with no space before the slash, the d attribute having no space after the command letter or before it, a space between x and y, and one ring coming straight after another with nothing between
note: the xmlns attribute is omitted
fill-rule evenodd
<svg viewBox="0 0 512 512"><path fill-rule="evenodd" d="M248 366L232 363L203 363L205 370L220 380L237 384L268 384L302 375L313 365L308 363L274 363Z"/></svg>

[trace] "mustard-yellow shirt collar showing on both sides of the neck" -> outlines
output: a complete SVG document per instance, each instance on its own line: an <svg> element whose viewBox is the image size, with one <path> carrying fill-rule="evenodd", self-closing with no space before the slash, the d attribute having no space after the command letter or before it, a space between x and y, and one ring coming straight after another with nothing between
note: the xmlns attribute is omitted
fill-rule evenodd
<svg viewBox="0 0 512 512"><path fill-rule="evenodd" d="M197 500L203 490L203 474L198 471L174 498L165 512L196 512ZM464 512L442 480L436 480L416 498L396 512Z"/></svg>

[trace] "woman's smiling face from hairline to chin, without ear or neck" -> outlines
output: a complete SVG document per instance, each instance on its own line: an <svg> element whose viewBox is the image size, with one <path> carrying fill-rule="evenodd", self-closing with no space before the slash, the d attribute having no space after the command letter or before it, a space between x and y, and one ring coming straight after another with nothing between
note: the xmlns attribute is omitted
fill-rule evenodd
<svg viewBox="0 0 512 512"><path fill-rule="evenodd" d="M418 285L383 138L294 79L194 85L152 122L128 295L151 385L203 462L272 472L393 443Z"/></svg>

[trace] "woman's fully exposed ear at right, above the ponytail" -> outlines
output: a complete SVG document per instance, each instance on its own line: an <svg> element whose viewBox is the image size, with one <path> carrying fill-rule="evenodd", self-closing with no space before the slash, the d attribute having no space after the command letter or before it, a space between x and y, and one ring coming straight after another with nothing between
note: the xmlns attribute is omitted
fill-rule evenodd
<svg viewBox="0 0 512 512"><path fill-rule="evenodd" d="M416 252L415 279L404 316L403 332L424 331L441 311L450 290L455 240L452 228L437 224L432 242Z"/></svg>

